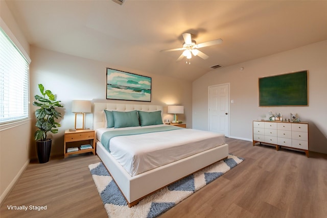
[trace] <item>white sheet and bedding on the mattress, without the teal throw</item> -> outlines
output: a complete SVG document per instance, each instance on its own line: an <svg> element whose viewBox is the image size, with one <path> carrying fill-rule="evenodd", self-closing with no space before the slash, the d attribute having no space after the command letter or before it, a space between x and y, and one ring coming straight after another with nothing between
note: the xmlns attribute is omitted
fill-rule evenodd
<svg viewBox="0 0 327 218"><path fill-rule="evenodd" d="M100 128L97 138L106 131L151 128L165 125L128 128ZM225 144L223 134L180 128L165 132L117 136L110 140L110 154L131 176L166 165L202 151Z"/></svg>

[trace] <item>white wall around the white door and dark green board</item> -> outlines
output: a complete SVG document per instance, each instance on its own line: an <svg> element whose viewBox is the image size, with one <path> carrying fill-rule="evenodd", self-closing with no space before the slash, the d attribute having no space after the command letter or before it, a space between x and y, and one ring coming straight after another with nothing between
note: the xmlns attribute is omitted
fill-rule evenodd
<svg viewBox="0 0 327 218"><path fill-rule="evenodd" d="M249 51L250 52L250 51ZM244 70L240 70L244 67ZM308 107L259 107L258 78L309 71ZM252 140L252 120L281 112L309 122L309 150L327 153L327 41L212 70L193 82L193 128L208 128L208 86L230 83L230 137Z"/></svg>

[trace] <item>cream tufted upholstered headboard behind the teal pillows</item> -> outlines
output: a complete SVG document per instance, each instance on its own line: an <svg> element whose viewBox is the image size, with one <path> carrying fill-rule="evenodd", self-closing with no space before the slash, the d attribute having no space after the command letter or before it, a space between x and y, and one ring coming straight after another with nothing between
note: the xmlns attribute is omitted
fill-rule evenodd
<svg viewBox="0 0 327 218"><path fill-rule="evenodd" d="M103 110L116 110L116 111L131 111L131 110L142 110L142 111L162 111L164 107L161 105L136 105L136 104L116 104L116 103L94 103L93 108L93 129L105 127L105 117Z"/></svg>

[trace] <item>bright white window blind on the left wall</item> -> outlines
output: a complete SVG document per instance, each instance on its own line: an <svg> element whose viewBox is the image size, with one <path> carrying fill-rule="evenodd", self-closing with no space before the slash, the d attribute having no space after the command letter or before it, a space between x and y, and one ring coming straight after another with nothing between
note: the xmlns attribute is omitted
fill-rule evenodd
<svg viewBox="0 0 327 218"><path fill-rule="evenodd" d="M29 63L0 28L0 124L28 117Z"/></svg>

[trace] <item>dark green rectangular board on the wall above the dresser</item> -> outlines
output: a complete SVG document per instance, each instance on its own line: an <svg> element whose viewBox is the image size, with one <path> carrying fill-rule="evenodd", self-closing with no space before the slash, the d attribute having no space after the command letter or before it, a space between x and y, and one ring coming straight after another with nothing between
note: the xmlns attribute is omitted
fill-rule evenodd
<svg viewBox="0 0 327 218"><path fill-rule="evenodd" d="M308 70L259 78L259 106L309 106Z"/></svg>

